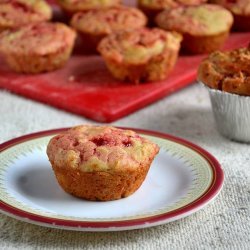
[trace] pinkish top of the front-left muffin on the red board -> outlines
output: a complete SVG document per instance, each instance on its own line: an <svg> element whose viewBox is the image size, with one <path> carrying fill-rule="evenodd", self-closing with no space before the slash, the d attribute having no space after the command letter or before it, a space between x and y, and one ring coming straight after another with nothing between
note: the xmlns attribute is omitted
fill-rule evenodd
<svg viewBox="0 0 250 250"><path fill-rule="evenodd" d="M36 23L0 34L0 52L46 55L72 45L75 31L62 23Z"/></svg>

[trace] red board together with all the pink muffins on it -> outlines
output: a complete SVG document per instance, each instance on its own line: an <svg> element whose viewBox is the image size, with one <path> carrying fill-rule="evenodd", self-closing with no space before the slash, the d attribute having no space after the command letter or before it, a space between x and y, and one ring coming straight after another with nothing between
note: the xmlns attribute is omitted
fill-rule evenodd
<svg viewBox="0 0 250 250"><path fill-rule="evenodd" d="M246 46L247 10L227 0L0 1L0 87L111 122L191 84L208 53Z"/></svg>

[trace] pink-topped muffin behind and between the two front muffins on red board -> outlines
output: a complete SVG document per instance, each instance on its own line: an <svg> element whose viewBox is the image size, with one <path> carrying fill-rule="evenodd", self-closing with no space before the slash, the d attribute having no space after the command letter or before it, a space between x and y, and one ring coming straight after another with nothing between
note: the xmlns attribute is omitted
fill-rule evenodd
<svg viewBox="0 0 250 250"><path fill-rule="evenodd" d="M105 36L121 30L142 28L146 25L147 18L136 8L116 6L78 12L70 23L83 41L83 52L91 54L97 53L96 48Z"/></svg>

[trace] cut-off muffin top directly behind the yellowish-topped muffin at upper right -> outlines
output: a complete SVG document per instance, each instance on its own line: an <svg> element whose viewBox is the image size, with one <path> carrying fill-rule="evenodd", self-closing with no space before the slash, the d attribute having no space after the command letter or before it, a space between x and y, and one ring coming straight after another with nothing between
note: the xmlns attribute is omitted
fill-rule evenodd
<svg viewBox="0 0 250 250"><path fill-rule="evenodd" d="M138 0L139 6L155 10L173 8L179 5L196 5L205 3L207 0Z"/></svg>

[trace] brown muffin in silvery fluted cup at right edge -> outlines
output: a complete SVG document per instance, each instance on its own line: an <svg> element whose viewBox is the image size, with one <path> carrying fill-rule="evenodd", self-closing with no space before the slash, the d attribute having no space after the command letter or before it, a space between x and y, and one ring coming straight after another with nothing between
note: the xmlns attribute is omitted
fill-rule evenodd
<svg viewBox="0 0 250 250"><path fill-rule="evenodd" d="M250 142L250 47L214 52L198 70L222 135Z"/></svg>

